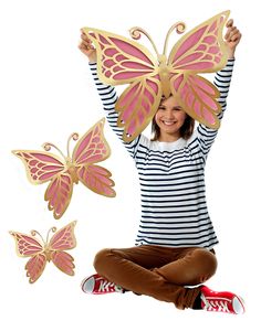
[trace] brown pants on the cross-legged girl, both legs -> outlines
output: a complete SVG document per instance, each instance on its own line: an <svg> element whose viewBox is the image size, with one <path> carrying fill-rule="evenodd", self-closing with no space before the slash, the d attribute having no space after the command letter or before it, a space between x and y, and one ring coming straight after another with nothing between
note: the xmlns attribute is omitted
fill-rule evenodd
<svg viewBox="0 0 261 321"><path fill-rule="evenodd" d="M173 302L178 309L192 308L200 286L217 269L212 252L200 247L142 245L105 248L97 253L98 275L135 293Z"/></svg>

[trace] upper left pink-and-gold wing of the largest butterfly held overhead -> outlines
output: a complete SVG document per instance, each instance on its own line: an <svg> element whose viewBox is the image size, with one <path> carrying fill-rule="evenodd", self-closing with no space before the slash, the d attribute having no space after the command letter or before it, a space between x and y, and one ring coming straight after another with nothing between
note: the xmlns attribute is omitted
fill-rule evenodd
<svg viewBox="0 0 261 321"><path fill-rule="evenodd" d="M83 31L95 44L97 73L105 84L129 84L158 73L157 60L136 41L93 28Z"/></svg>

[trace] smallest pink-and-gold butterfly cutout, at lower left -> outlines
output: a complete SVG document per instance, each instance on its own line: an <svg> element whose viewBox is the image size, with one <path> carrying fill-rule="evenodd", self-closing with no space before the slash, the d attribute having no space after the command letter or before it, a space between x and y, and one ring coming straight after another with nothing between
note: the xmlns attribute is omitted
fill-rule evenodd
<svg viewBox="0 0 261 321"><path fill-rule="evenodd" d="M10 232L15 240L18 256L30 257L25 265L29 282L34 283L42 275L48 261L52 261L61 271L69 276L74 276L74 259L65 250L76 246L74 226L76 221L56 232L52 227L48 232L46 242L36 231L31 231L31 235L20 232ZM55 233L49 242L50 233ZM41 240L34 236L39 235Z"/></svg>

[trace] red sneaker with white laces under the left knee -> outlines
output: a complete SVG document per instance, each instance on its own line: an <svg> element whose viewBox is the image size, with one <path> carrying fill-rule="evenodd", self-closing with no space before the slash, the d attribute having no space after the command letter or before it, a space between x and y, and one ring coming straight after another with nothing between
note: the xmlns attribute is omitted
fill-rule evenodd
<svg viewBox="0 0 261 321"><path fill-rule="evenodd" d="M85 293L90 295L107 295L113 292L123 293L124 290L122 287L109 282L100 275L93 275L88 278L85 278L81 283L82 290Z"/></svg>

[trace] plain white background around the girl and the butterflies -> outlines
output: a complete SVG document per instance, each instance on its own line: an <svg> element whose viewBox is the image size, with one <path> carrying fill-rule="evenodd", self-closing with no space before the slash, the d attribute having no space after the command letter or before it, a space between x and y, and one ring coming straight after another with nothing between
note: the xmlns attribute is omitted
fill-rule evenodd
<svg viewBox="0 0 261 321"><path fill-rule="evenodd" d="M93 3L92 3L93 2ZM150 3L150 7L149 7ZM153 1L154 3L154 1ZM232 290L247 302L240 320L257 320L260 310L260 57L258 1L81 1L9 0L0 4L0 319L1 320L230 320L205 311L178 311L171 303L132 293L86 296L82 278L94 272L95 253L103 247L133 246L139 218L139 186L132 159L108 126L112 156L102 165L116 182L117 196L105 199L83 185L74 188L71 205L55 221L43 200L46 184L34 186L12 149L41 149L45 141L65 151L73 131L83 135L104 114L87 60L77 50L80 29L94 26L127 36L130 26L146 29L163 45L168 28L185 21L188 30L223 11L242 31L237 51L228 111L208 159L209 212L220 244L219 269L208 281ZM177 41L174 35L171 41ZM38 229L45 237L77 220L75 276L49 264L29 285L9 231ZM259 263L258 263L259 261ZM236 317L237 318L237 317Z"/></svg>

